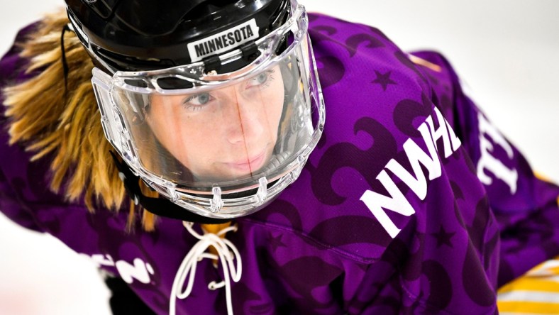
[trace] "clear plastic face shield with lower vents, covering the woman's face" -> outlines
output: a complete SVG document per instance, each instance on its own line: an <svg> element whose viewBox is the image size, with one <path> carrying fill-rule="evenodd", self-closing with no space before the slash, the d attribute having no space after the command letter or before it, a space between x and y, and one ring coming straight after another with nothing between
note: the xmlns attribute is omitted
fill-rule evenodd
<svg viewBox="0 0 559 315"><path fill-rule="evenodd" d="M323 129L307 27L298 6L255 42L258 57L233 72L206 72L202 62L112 77L95 68L106 138L133 172L185 209L223 219L261 209L297 179ZM240 57L233 50L219 59Z"/></svg>

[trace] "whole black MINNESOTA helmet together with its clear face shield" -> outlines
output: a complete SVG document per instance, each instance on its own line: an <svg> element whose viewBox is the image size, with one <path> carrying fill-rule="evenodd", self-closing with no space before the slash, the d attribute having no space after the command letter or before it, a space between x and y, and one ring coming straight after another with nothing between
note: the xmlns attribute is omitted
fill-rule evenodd
<svg viewBox="0 0 559 315"><path fill-rule="evenodd" d="M140 177L160 194L150 203L131 189L145 209L231 219L262 209L299 177L324 125L304 6L66 1L96 65L101 125L125 185Z"/></svg>

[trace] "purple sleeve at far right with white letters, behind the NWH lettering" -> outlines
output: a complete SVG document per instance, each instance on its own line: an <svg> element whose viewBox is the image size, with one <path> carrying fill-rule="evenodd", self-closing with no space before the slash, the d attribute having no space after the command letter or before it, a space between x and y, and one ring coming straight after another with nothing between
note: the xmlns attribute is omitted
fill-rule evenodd
<svg viewBox="0 0 559 315"><path fill-rule="evenodd" d="M524 155L465 94L448 60L433 52L416 55L441 67L451 82L453 98L447 104L441 101L440 107L463 140L497 219L500 287L559 255L559 188L538 177ZM441 76L428 68L426 72L434 78L431 81ZM442 89L436 93L443 94Z"/></svg>

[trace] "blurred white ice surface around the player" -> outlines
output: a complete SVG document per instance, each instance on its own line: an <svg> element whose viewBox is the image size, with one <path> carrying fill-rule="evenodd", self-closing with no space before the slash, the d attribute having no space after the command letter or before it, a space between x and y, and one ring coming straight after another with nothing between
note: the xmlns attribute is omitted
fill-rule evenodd
<svg viewBox="0 0 559 315"><path fill-rule="evenodd" d="M0 53L62 0L6 1ZM559 182L559 1L301 1L380 28L404 50L443 52L473 98L535 170ZM1 162L1 161L0 161ZM109 314L91 262L0 215L0 314Z"/></svg>

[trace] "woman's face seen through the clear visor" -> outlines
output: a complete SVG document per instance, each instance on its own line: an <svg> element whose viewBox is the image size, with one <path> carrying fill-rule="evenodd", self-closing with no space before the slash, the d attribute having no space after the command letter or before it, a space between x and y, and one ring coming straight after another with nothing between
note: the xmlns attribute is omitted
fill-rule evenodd
<svg viewBox="0 0 559 315"><path fill-rule="evenodd" d="M253 175L272 156L284 104L280 67L211 92L151 98L157 140L198 180Z"/></svg>

